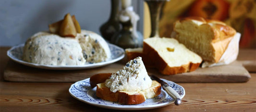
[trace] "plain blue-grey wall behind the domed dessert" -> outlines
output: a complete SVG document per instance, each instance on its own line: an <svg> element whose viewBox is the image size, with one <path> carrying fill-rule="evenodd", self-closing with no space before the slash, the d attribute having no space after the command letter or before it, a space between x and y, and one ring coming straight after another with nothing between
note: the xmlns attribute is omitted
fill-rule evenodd
<svg viewBox="0 0 256 112"><path fill-rule="evenodd" d="M132 0L132 5L140 16L137 30L142 32L143 0ZM50 23L67 13L75 15L81 29L100 34L99 27L110 17L110 7L110 0L0 0L0 46L24 43L38 31L48 31Z"/></svg>

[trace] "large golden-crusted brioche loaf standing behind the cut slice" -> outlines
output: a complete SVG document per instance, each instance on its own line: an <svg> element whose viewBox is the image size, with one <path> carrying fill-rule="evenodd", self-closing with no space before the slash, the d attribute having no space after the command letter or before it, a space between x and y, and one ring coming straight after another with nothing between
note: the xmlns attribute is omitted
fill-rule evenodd
<svg viewBox="0 0 256 112"><path fill-rule="evenodd" d="M218 62L236 31L218 20L187 17L173 24L171 37L194 51L204 61Z"/></svg>

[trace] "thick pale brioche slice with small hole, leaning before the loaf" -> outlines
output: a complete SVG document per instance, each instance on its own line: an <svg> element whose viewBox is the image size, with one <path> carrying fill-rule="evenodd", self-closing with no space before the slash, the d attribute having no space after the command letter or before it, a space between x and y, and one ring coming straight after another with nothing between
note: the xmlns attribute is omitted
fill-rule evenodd
<svg viewBox="0 0 256 112"><path fill-rule="evenodd" d="M165 75L195 71L202 62L200 56L173 38L148 38L143 53Z"/></svg>

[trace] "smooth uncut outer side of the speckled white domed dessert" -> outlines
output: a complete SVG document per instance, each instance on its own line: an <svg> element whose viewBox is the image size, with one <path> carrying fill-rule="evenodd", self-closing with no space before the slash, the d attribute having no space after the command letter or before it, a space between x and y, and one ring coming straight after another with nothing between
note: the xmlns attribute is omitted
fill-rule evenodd
<svg viewBox="0 0 256 112"><path fill-rule="evenodd" d="M39 32L26 42L24 61L45 65L85 64L82 49L76 40L47 32Z"/></svg>

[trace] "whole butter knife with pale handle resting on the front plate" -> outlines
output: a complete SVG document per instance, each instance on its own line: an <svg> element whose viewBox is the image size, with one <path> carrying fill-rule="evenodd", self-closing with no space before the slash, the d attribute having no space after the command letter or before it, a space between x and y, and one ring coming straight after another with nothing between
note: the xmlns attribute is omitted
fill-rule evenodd
<svg viewBox="0 0 256 112"><path fill-rule="evenodd" d="M166 83L163 80L160 80L158 77L156 77L154 75L151 76L151 79L155 80L155 81L158 81L161 84L164 91L167 92L171 96L172 99L174 99L174 101L175 101L174 104L175 105L179 105L179 104L182 103L181 96L175 90L173 90L168 83Z"/></svg>

